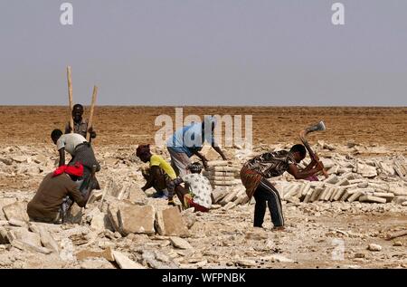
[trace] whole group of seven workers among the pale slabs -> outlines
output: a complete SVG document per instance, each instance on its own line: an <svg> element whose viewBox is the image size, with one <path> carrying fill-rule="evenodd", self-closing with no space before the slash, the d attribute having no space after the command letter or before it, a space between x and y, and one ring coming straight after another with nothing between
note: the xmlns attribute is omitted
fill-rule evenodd
<svg viewBox="0 0 407 287"><path fill-rule="evenodd" d="M65 128L65 134L60 129L52 130L52 142L57 146L60 160L59 167L43 178L35 196L28 204L27 213L33 221L46 223L63 223L73 202L78 206L86 206L93 189L99 189L95 173L100 165L95 158L90 140L96 138L96 133L82 119L83 107L77 104L72 110L73 130L70 123ZM170 163L160 155L153 154L149 145L139 145L136 155L149 167L143 169L146 179L143 191L153 187L156 197L166 198L168 205L175 206L174 196L177 196L184 208L193 207L194 211L208 212L212 206L213 187L209 179L201 174L207 169L208 159L200 153L204 142L211 144L223 160L227 160L222 149L214 140L215 117L206 117L203 122L192 124L175 130L174 135L167 140L166 148L170 155ZM72 132L73 131L73 132ZM65 164L65 152L71 155L71 161ZM283 229L279 192L267 178L278 177L288 171L297 179L315 176L323 165L312 160L308 167L298 168L298 163L306 157L307 150L303 145L294 145L289 150L266 152L251 158L241 167L241 182L246 188L247 196L254 197L254 226L262 227L266 207L269 206L271 221L275 229ZM196 156L200 162L192 162ZM315 178L315 177L314 177Z"/></svg>

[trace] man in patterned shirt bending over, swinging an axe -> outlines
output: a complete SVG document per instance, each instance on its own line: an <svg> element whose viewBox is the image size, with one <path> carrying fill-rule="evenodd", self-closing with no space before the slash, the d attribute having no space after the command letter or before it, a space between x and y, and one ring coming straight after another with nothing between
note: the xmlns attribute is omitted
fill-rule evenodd
<svg viewBox="0 0 407 287"><path fill-rule="evenodd" d="M325 129L325 125L324 125ZM301 139L305 139L308 132L323 130L321 127L306 129L301 132ZM302 137L303 136L303 137ZM301 144L292 146L289 150L279 150L263 153L255 158L251 158L241 167L241 182L246 187L246 194L251 199L254 196L256 205L254 207L254 227L262 227L264 215L266 214L266 204L269 206L271 221L275 230L284 229L284 216L282 213L281 199L278 190L267 178L281 176L288 171L296 179L306 179L315 176L324 169L317 156L312 152L311 163L304 169L298 169L297 165L310 151L308 142L304 147ZM311 150L312 151L312 150Z"/></svg>

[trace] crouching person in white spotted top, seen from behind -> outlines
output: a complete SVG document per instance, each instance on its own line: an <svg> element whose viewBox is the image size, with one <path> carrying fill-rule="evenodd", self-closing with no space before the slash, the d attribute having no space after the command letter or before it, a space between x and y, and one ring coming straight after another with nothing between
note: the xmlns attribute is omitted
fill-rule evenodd
<svg viewBox="0 0 407 287"><path fill-rule="evenodd" d="M194 207L194 211L208 212L212 206L212 186L209 179L201 175L203 165L199 162L190 164L187 169L191 172L182 177L185 188L184 205L186 208Z"/></svg>

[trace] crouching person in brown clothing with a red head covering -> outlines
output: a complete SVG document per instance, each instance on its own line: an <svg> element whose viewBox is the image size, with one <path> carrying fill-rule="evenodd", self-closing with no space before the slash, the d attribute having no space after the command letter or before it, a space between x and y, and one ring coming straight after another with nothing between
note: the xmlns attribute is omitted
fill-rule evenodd
<svg viewBox="0 0 407 287"><path fill-rule="evenodd" d="M62 206L69 196L78 206L84 207L90 192L82 195L76 181L83 176L83 166L58 167L54 172L43 178L43 182L33 199L28 203L27 213L30 220L58 224L62 219Z"/></svg>

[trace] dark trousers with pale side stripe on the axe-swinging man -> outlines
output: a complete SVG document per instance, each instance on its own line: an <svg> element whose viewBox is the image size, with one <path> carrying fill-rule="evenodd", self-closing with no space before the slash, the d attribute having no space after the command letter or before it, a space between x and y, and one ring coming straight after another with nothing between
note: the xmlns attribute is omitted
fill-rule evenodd
<svg viewBox="0 0 407 287"><path fill-rule="evenodd" d="M261 227L266 214L266 202L269 206L271 221L274 227L284 225L284 217L282 214L281 199L279 192L273 187L269 181L262 178L259 187L254 192L256 206L254 206L254 226Z"/></svg>

